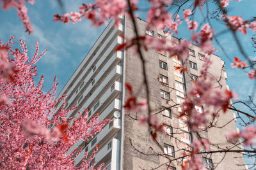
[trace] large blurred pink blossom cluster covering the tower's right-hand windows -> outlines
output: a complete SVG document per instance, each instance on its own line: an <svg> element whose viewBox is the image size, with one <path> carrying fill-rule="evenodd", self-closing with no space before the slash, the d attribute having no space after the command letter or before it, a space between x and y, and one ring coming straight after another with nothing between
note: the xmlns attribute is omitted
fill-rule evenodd
<svg viewBox="0 0 256 170"><path fill-rule="evenodd" d="M214 110L223 110L224 113L230 106L230 99L236 97L236 94L230 90L223 90L214 87L215 78L209 74L211 60L205 58L204 66L200 71L200 80L193 83L193 88L188 90L188 96L182 104L180 116L188 115L188 122L191 131L198 131L200 125L208 122L207 117L216 117L208 108ZM205 106L204 110L198 108Z"/></svg>

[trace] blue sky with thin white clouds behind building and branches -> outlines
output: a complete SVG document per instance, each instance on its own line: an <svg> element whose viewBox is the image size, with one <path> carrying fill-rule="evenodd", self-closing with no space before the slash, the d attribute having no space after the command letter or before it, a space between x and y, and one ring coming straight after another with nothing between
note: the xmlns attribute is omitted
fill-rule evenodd
<svg viewBox="0 0 256 170"><path fill-rule="evenodd" d="M40 52L44 49L48 50L45 56L38 62L38 74L44 74L45 76L45 91L51 88L53 77L56 76L59 83L58 92L60 92L77 66L79 66L86 53L90 50L93 43L99 37L105 25L99 28L91 27L90 21L88 20L77 22L75 25L52 22L53 15L61 13L60 7L56 2L57 1L52 0L37 0L33 5L29 3L26 4L28 15L34 27L34 33L31 35L24 32L25 29L23 28L22 22L17 17L16 10L0 10L0 39L6 42L11 35L14 35L17 45L19 45L19 39L26 40L30 55L35 52L35 41L38 41ZM68 3L64 1L65 10L67 12L77 11L77 8L81 6L82 3L88 3L88 1L72 0L68 1ZM140 6L146 8L147 4L140 3ZM214 9L210 1L209 6L210 9ZM228 6L229 15L242 15L243 20L249 20L250 17L255 15L255 9L255 0L243 0L241 2L232 1ZM182 16L182 11L180 11L180 16ZM145 19L145 13L140 13L140 17ZM195 20L202 20L199 10L195 13ZM218 22L212 22L212 25L216 34L227 29ZM186 23L183 22L182 25L179 26L179 33L173 35L178 38L189 39L191 32L188 31L186 27ZM246 35L238 33L239 39L248 57L256 60L256 53L253 53L251 45L252 35L252 31L248 31ZM255 88L255 81L249 80L246 73L239 69L232 69L230 67L230 63L232 62L230 59L233 59L234 56L244 60L230 32L221 34L221 36L218 36L218 39L221 46L225 48L230 57L226 57L223 52L221 52L220 47L214 43L214 46L219 49L216 55L221 56L221 58L225 60L228 85L230 89L236 91L239 95L239 99L246 101L248 94L252 95L252 89ZM241 109L246 110L246 108L242 106Z"/></svg>

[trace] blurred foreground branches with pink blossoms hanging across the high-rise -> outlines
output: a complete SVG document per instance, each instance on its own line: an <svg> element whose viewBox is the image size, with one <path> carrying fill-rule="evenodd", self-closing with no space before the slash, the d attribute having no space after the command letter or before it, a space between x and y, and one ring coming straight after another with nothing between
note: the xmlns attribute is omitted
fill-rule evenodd
<svg viewBox="0 0 256 170"><path fill-rule="evenodd" d="M255 61L248 58L248 55L244 52L243 47L241 46L241 42L237 38L237 32L242 34L247 34L249 30L253 32L256 31L256 22L255 17L251 17L249 20L243 20L241 16L229 16L228 15L228 5L229 3L234 3L231 0L213 0L212 2L215 4L213 12L209 10L209 2L205 0L195 0L195 1L166 1L166 0L153 0L149 1L150 8L147 9L147 29L162 29L168 32L170 35L178 32L178 27L182 22L186 22L188 25L188 30L191 32L191 40L181 41L180 45L171 46L171 43L165 43L165 39L156 39L148 36L141 36L138 33L138 28L135 21L136 11L139 11L140 8L136 6L138 1L130 1L130 0L104 0L104 1L95 1L93 4L83 4L79 8L79 12L76 13L67 13L65 15L54 15L54 21L60 21L63 23L73 22L76 23L78 20L82 18L86 18L92 21L92 25L99 26L108 21L108 18L115 18L116 25L118 25L118 16L119 15L128 15L133 23L135 36L132 39L125 39L125 43L118 46L118 50L122 50L124 48L134 47L141 61L143 62L143 78L145 83L145 88L147 91L147 104L145 104L145 100L138 100L136 96L132 92L131 85L127 84L127 89L131 92L131 96L127 99L125 103L125 108L131 109L131 111L138 110L140 108L145 108L147 106L147 115L141 117L140 121L142 123L147 123L149 127L148 134L152 136L157 142L157 134L163 128L163 125L156 124L157 121L152 121L153 113L150 108L150 96L148 89L148 80L146 76L145 69L145 56L143 56L142 50L147 50L148 48L154 48L159 51L166 51L172 55L179 55L180 59L183 61L183 66L177 67L178 70L186 72L186 66L188 66L188 49L191 43L195 43L200 46L202 50L211 55L216 50L213 46L213 40L216 41L218 45L220 45L218 36L212 27L212 20L221 20L221 22L227 26L227 30L225 32L230 31L234 36L237 46L239 46L239 52L242 54L244 59L247 60L248 65L243 62L243 60L239 59L239 57L234 57L234 62L232 67L237 67L241 69L241 71L246 71L248 78L256 79L255 74ZM206 8L206 11L202 10ZM172 11L172 9L174 9ZM183 11L182 11L183 10ZM195 17L195 12L200 11L202 13L202 17L204 18L202 23L198 23L193 20ZM179 14L182 11L183 18L180 18ZM206 15L204 15L206 13ZM202 26L202 27L200 27ZM223 32L220 32L220 34ZM255 38L253 38L253 43ZM223 53L228 57L225 49ZM229 57L228 57L229 58ZM229 58L230 59L230 58ZM236 103L230 103L230 99L234 99L236 97L235 92L230 90L220 90L216 89L212 84L220 83L218 79L212 77L211 74L208 73L208 69L211 66L211 60L205 60L204 69L200 73L200 80L195 82L195 86L193 89L190 89L187 92L186 99L184 103L180 104L182 111L180 111L180 117L187 116L188 120L186 120L189 128L193 132L198 131L198 125L206 125L210 122L208 127L214 127L214 121L218 117L219 113L214 113L210 110L205 110L203 114L198 116L198 110L195 109L195 106L205 105L207 108L213 107L215 110L221 110L225 114L227 110L234 110L237 112L237 118L241 119L243 122L243 131L237 133L230 132L227 134L227 138L230 142L234 143L234 146L244 145L250 146L250 148L239 148L237 150L231 150L230 148L217 150L216 152L239 152L245 153L247 157L255 157L255 135L256 135L256 127L255 127L255 103L253 101L253 96L249 96L248 103L244 103L242 101L238 101ZM249 69L249 71L248 71ZM243 72L242 72L243 73ZM221 84L220 84L221 87ZM200 97L198 97L198 95ZM236 104L241 103L244 104L250 111L238 110L235 106ZM173 106L170 106L170 108ZM159 111L160 113L160 111ZM211 118L208 119L207 117ZM196 121L195 121L196 120ZM238 139L241 139L241 142ZM204 169L202 166L202 160L198 155L204 153L212 153L207 148L210 144L207 141L199 138L197 141L194 141L193 148L194 151L189 155L184 155L184 157L191 157L189 160L189 164L184 164L184 169L195 168L195 169ZM134 147L135 148L135 147ZM232 147L231 147L232 148ZM135 148L136 149L136 148ZM140 150L138 150L140 152ZM160 156L166 157L164 153L157 153ZM180 157L179 159L184 159L184 157ZM170 162L173 160L170 159ZM255 164L252 164L252 168Z"/></svg>

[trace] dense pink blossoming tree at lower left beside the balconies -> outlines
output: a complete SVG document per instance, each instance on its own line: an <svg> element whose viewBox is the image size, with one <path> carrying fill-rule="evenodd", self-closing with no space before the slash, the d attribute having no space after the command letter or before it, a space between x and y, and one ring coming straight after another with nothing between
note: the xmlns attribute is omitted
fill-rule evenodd
<svg viewBox="0 0 256 170"><path fill-rule="evenodd" d="M0 43L1 62L1 103L0 103L0 167L1 169L74 169L74 160L79 151L70 155L67 151L78 140L87 141L102 130L110 120L99 122L98 115L87 120L88 110L79 117L66 118L76 106L57 111L55 100L56 78L52 89L43 91L44 76L35 83L36 62L44 55L36 52L29 60L25 41L20 40L21 50L13 50L13 36L8 43ZM72 120L72 121L70 121ZM97 153L84 160L76 169L93 168L91 162ZM85 153L87 157L87 153ZM90 164L91 163L91 164ZM102 167L104 164L100 165Z"/></svg>

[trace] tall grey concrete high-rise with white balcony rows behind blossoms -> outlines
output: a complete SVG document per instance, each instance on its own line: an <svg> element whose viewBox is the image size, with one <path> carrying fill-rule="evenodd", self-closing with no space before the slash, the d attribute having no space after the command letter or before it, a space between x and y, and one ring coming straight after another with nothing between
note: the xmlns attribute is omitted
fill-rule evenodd
<svg viewBox="0 0 256 170"><path fill-rule="evenodd" d="M193 134L185 124L186 117L179 117L179 105L170 108L173 104L182 103L186 96L186 90L193 86L192 81L198 80L205 59L204 52L198 46L190 46L189 66L186 74L175 70L175 66L182 64L179 56L167 57L168 53L156 52L152 49L143 51L147 66L150 106L154 113L163 110L157 114L157 118L166 124L164 127L166 134L157 136L160 147L152 140L148 127L139 124L136 120L143 113L129 114L122 107L129 95L124 87L125 82L132 85L137 97L146 97L146 94L142 62L136 52L130 48L115 51L116 45L124 41L120 33L128 39L134 37L132 22L125 17L120 17L120 22L122 24L119 27L115 27L113 20L109 23L59 94L59 97L67 94L67 108L74 104L78 107L67 117L75 116L78 111L83 112L84 108L88 108L88 119L97 112L100 113L100 120L113 119L113 122L106 125L104 131L99 132L95 138L90 141L79 141L74 146L74 148L82 147L83 149L75 158L75 165L81 164L84 152L88 152L90 155L95 145L99 145L99 152L93 160L96 167L104 162L105 166L111 170L151 168L178 170L181 169L182 160L177 158L192 150L191 142L198 138L198 134L222 148L230 145L225 138L225 132L234 131L234 129L236 131L232 111L227 111L218 118L217 125L219 126L231 121L225 127L210 129L200 127L202 131ZM147 23L140 18L136 18L136 22L141 35L158 38L165 36L169 42L172 42L172 45L177 45L182 41L182 39L168 36L164 31L148 31ZM227 74L223 70L224 62L217 55L211 55L211 60L212 67L209 71L216 78L220 78L220 83L225 89ZM61 104L58 103L58 107ZM204 106L196 106L195 109L200 112ZM211 150L216 149L211 146ZM158 153L166 153L168 156L161 156ZM242 157L243 155L239 153L205 153L202 155L207 169L213 167L216 169L243 169L244 167L237 166L237 164L244 164Z"/></svg>

